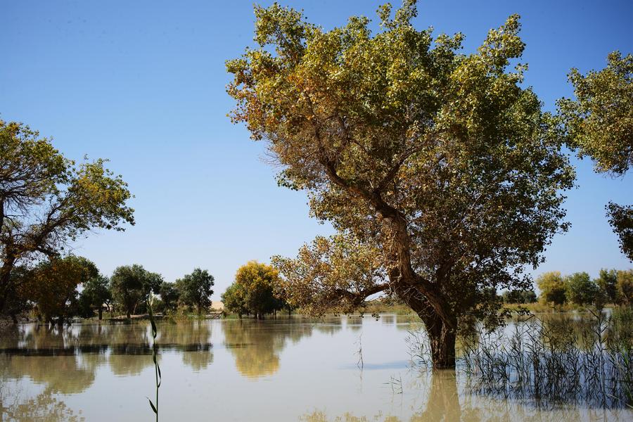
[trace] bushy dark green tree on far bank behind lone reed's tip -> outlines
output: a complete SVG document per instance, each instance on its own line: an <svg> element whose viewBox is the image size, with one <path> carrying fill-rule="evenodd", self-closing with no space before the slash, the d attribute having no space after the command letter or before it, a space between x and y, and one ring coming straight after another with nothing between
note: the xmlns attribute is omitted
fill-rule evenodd
<svg viewBox="0 0 633 422"><path fill-rule="evenodd" d="M139 264L117 267L110 277L113 298L122 305L128 318L152 293L159 293L161 283L160 274L147 271Z"/></svg>

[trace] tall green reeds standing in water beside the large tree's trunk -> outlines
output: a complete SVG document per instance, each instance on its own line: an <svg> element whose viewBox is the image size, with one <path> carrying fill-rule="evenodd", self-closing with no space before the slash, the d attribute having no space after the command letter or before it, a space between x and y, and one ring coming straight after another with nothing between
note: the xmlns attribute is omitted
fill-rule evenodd
<svg viewBox="0 0 633 422"><path fill-rule="evenodd" d="M457 371L466 388L539 407L633 409L633 309L589 311L522 316L494 330L476 324L459 341ZM423 334L407 341L412 360L428 367Z"/></svg>

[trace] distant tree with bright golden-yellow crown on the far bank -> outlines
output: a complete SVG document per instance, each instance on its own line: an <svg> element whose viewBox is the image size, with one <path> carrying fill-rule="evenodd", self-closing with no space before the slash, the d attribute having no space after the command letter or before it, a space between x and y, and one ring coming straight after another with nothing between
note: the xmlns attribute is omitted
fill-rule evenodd
<svg viewBox="0 0 633 422"><path fill-rule="evenodd" d="M283 302L276 297L274 288L279 284L279 272L267 264L249 261L235 274L238 291L243 294L244 306L257 319L282 309Z"/></svg>

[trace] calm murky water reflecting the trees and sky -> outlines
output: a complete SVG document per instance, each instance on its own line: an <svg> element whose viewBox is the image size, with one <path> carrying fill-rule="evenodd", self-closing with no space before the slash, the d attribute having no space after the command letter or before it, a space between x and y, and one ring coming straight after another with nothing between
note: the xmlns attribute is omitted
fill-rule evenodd
<svg viewBox="0 0 633 422"><path fill-rule="evenodd" d="M162 421L630 421L469 390L411 364L410 316L158 324ZM151 421L151 335L138 324L25 324L0 340L2 421Z"/></svg>

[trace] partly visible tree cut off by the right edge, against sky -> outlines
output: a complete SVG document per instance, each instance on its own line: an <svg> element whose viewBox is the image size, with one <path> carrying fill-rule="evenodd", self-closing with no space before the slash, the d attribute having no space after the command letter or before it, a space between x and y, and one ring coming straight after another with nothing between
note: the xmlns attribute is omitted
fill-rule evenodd
<svg viewBox="0 0 633 422"><path fill-rule="evenodd" d="M589 155L596 172L624 176L633 165L633 55L622 58L613 51L607 63L587 75L572 69L569 80L576 99L562 98L558 109L569 145L581 157ZM609 202L606 210L622 253L633 261L633 206Z"/></svg>

